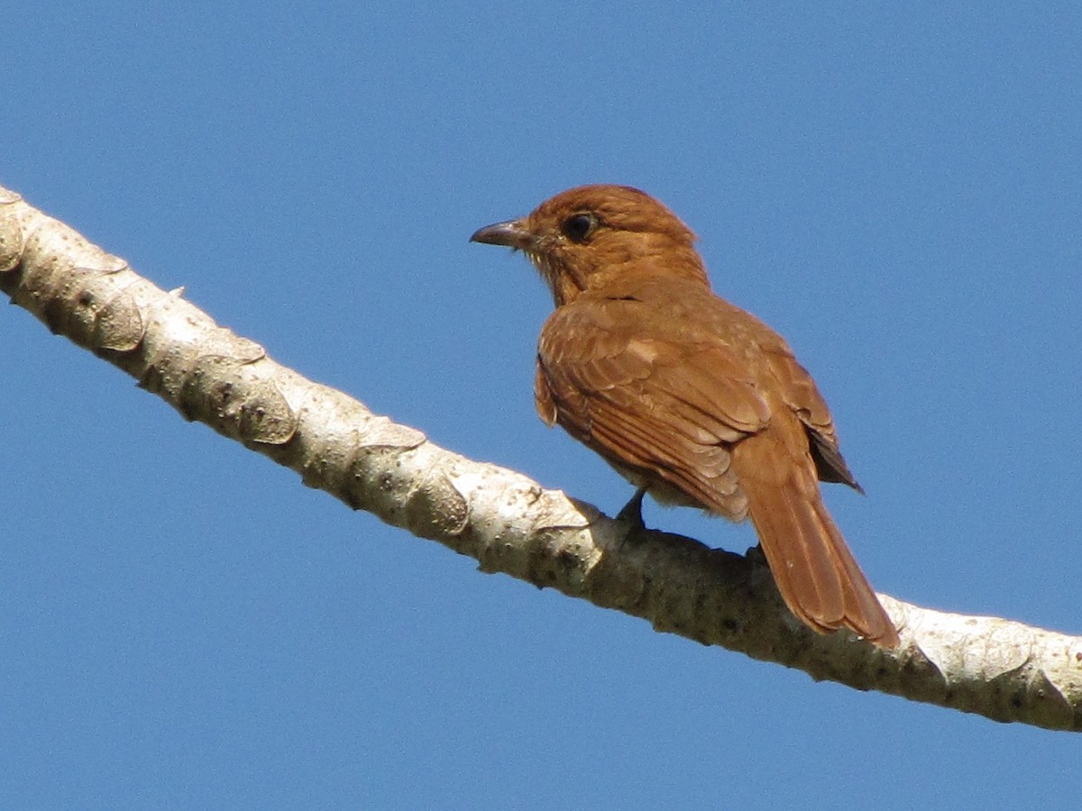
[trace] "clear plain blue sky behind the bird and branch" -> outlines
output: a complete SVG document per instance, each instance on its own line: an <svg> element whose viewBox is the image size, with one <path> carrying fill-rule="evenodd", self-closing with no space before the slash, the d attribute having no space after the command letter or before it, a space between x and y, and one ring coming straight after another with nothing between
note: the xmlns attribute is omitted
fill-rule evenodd
<svg viewBox="0 0 1082 811"><path fill-rule="evenodd" d="M157 284L611 514L533 413L546 291L466 240L638 186L818 380L873 584L1082 633L1082 5L95 5L4 14L0 184ZM19 308L0 343L0 807L1079 807L1078 735L480 574Z"/></svg>

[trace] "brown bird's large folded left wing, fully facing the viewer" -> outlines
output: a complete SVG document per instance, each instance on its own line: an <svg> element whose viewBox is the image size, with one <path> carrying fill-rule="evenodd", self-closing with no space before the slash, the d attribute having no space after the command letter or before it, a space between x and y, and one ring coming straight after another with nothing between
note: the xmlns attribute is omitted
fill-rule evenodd
<svg viewBox="0 0 1082 811"><path fill-rule="evenodd" d="M593 301L552 315L538 348L538 412L618 467L651 473L692 502L742 518L730 448L766 426L769 407L724 340L651 334L657 322L639 318L639 307ZM618 321L634 323L634 335L613 329Z"/></svg>

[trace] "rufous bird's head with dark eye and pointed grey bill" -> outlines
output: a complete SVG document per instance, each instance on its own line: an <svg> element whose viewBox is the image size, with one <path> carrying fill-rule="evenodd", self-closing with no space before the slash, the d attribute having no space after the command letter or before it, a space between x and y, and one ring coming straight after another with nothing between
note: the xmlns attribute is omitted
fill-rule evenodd
<svg viewBox="0 0 1082 811"><path fill-rule="evenodd" d="M678 276L709 285L691 230L630 186L568 189L525 217L486 226L470 239L523 251L557 306L629 274Z"/></svg>

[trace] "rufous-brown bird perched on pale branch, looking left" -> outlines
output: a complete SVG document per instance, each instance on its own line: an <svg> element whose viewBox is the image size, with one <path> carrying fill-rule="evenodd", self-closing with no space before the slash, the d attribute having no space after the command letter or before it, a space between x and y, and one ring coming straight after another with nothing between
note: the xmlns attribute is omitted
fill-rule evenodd
<svg viewBox="0 0 1082 811"><path fill-rule="evenodd" d="M714 295L675 214L638 189L581 186L471 239L522 250L552 290L538 413L639 488L633 515L645 491L750 517L793 614L897 647L819 493L860 490L826 401L778 333Z"/></svg>

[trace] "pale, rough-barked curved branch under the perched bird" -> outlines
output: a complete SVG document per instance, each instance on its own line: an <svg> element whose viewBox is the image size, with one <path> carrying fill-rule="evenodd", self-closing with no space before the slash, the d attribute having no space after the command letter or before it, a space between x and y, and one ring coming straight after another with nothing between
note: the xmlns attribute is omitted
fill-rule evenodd
<svg viewBox="0 0 1082 811"><path fill-rule="evenodd" d="M560 491L473 462L267 357L128 264L0 187L0 290L50 330L305 484L469 555L481 571L551 586L657 630L858 690L1082 730L1082 638L889 597L902 647L819 636L782 604L757 555L635 531Z"/></svg>

